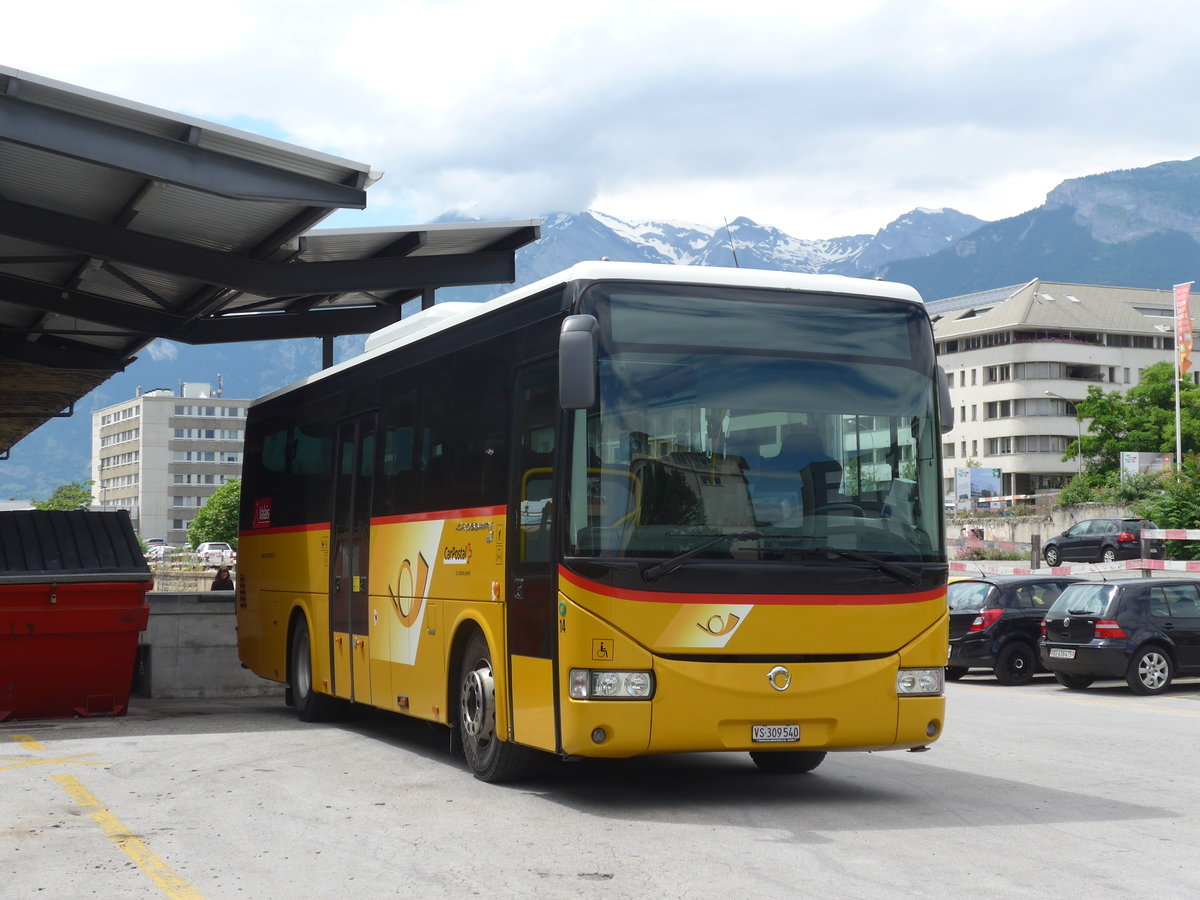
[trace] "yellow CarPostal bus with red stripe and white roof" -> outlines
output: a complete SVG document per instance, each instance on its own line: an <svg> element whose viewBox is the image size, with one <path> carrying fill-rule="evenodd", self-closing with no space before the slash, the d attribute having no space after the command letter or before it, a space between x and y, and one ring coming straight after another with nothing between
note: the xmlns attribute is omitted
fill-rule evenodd
<svg viewBox="0 0 1200 900"><path fill-rule="evenodd" d="M900 284L605 260L439 304L250 409L241 660L304 720L444 725L485 781L924 749L949 425Z"/></svg>

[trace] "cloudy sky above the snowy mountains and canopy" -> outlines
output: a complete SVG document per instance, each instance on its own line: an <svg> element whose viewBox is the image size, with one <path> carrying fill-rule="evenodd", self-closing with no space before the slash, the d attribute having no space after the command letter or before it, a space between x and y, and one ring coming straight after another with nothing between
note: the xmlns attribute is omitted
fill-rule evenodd
<svg viewBox="0 0 1200 900"><path fill-rule="evenodd" d="M1200 156L1184 0L13 4L0 64L371 164L366 212L798 238Z"/></svg>

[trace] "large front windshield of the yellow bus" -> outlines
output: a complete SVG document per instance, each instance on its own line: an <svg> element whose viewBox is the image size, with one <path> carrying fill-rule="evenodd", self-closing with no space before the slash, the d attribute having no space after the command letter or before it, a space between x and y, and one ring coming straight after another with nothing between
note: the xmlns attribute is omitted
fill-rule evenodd
<svg viewBox="0 0 1200 900"><path fill-rule="evenodd" d="M572 419L568 553L942 554L929 324L887 299L595 284L599 404Z"/></svg>

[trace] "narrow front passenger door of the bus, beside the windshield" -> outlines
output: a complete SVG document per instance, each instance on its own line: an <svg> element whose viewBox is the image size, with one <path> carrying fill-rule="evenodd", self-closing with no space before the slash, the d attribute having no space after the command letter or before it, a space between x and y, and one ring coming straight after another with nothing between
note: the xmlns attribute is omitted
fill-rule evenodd
<svg viewBox="0 0 1200 900"><path fill-rule="evenodd" d="M505 628L509 737L544 750L558 746L554 718L554 361L517 371L512 406L512 474L508 509Z"/></svg>

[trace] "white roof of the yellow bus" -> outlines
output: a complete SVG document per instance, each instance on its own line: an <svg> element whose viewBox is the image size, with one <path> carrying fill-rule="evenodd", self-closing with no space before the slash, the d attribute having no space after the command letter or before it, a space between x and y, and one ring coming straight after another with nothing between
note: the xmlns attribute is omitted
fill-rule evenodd
<svg viewBox="0 0 1200 900"><path fill-rule="evenodd" d="M428 310L394 322L367 336L361 354L336 366L304 378L286 388L259 397L254 404L288 394L314 382L319 382L346 368L358 366L398 347L430 337L479 316L518 304L557 284L571 281L646 281L672 282L677 284L715 284L726 287L773 288L776 290L803 290L818 294L845 294L852 296L878 296L922 304L920 294L908 284L893 281L851 278L845 275L812 275L810 272L784 272L768 269L728 269L710 265L673 265L670 263L614 263L607 259L576 263L540 281L526 284L486 302L444 302Z"/></svg>

